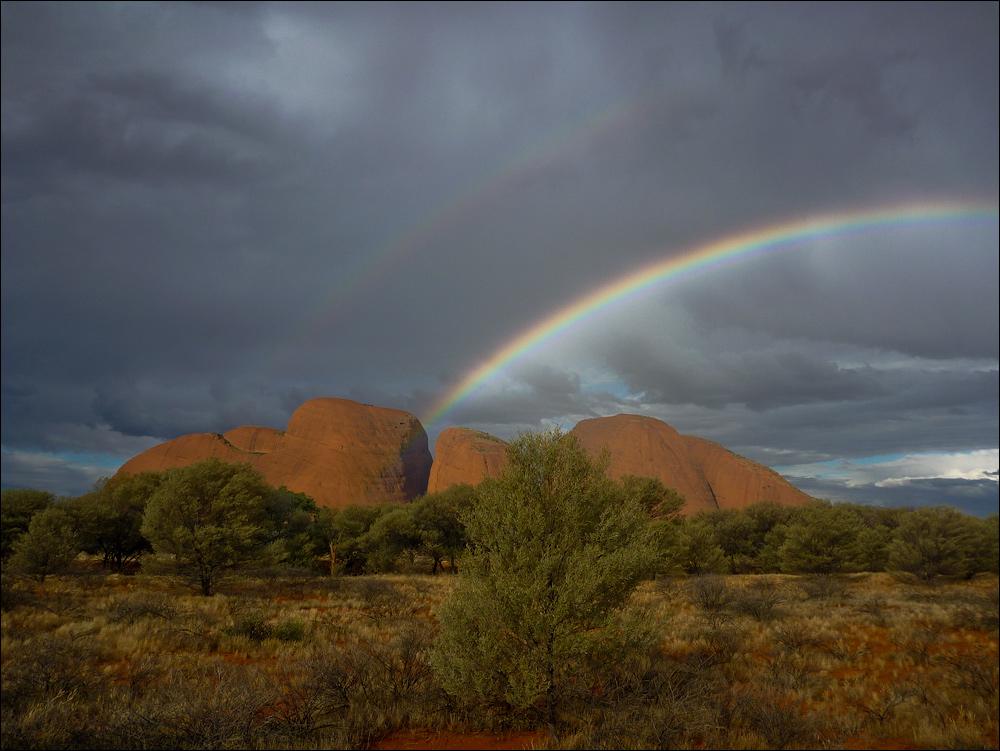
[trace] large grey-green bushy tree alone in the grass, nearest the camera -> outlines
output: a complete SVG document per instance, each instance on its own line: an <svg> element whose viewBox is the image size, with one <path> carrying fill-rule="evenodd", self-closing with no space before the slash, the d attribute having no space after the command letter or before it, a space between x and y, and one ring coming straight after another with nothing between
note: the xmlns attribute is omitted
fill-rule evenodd
<svg viewBox="0 0 1000 751"><path fill-rule="evenodd" d="M465 518L471 547L431 662L449 691L516 709L542 700L554 729L565 689L645 644L626 604L657 551L606 455L554 430L522 433L507 458Z"/></svg>

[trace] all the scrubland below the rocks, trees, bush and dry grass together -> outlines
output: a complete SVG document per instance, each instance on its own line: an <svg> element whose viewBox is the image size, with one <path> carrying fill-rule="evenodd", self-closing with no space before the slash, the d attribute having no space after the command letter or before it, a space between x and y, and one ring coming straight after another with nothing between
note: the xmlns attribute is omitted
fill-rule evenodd
<svg viewBox="0 0 1000 751"><path fill-rule="evenodd" d="M997 748L995 515L684 518L558 432L511 451L338 513L217 462L4 491L0 745Z"/></svg>

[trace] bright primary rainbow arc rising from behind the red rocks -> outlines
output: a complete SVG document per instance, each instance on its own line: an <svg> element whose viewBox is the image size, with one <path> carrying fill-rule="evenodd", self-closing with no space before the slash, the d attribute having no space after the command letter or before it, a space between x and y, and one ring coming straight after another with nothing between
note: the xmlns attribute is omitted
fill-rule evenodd
<svg viewBox="0 0 1000 751"><path fill-rule="evenodd" d="M477 388L515 360L556 335L629 297L686 273L703 271L754 253L765 253L809 240L895 229L921 224L993 220L995 203L935 202L810 216L730 235L656 261L585 294L518 334L465 375L430 409L424 425L438 422Z"/></svg>

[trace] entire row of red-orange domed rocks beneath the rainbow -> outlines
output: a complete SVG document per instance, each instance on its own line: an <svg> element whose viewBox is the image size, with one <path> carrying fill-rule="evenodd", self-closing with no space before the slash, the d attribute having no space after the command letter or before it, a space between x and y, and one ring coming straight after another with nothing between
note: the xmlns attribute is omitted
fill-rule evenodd
<svg viewBox="0 0 1000 751"><path fill-rule="evenodd" d="M599 417L581 421L570 433L595 455L608 448L612 477L656 477L675 488L687 499L687 515L763 500L810 500L774 470L711 441L681 435L655 418ZM247 425L181 436L130 459L118 473L160 471L212 457L247 462L275 487L340 509L351 503L404 503L459 483L478 485L507 466L506 448L488 433L447 428L438 436L432 463L427 433L409 412L313 399L295 410L285 430Z"/></svg>

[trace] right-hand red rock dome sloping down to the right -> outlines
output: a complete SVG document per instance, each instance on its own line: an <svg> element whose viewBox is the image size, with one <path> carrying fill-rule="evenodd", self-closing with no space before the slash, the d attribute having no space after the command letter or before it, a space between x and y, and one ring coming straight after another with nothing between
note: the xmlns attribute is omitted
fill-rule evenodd
<svg viewBox="0 0 1000 751"><path fill-rule="evenodd" d="M811 500L773 469L703 438L681 435L652 417L581 420L570 434L591 453L608 447L612 477L657 477L676 488L687 499L685 515L703 509L743 508L757 501L798 505Z"/></svg>

